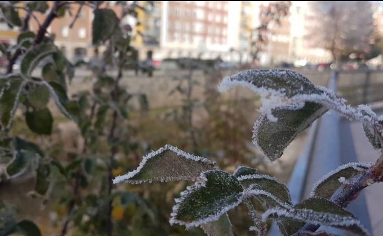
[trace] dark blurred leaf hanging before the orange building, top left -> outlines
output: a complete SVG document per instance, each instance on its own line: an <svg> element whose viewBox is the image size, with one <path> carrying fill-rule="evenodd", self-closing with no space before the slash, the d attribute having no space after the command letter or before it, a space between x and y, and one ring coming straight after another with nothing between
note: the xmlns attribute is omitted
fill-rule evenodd
<svg viewBox="0 0 383 236"><path fill-rule="evenodd" d="M109 39L118 27L119 20L111 9L95 9L92 23L92 43L98 44Z"/></svg>

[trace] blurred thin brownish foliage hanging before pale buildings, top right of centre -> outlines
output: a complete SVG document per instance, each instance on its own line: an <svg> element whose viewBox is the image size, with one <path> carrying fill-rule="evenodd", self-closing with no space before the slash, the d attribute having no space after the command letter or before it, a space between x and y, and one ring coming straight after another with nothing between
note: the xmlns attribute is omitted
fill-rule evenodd
<svg viewBox="0 0 383 236"><path fill-rule="evenodd" d="M258 59L259 52L265 51L272 36L273 25L280 25L288 16L291 1L270 1L267 6L260 6L259 26L252 29L250 52L253 60Z"/></svg>

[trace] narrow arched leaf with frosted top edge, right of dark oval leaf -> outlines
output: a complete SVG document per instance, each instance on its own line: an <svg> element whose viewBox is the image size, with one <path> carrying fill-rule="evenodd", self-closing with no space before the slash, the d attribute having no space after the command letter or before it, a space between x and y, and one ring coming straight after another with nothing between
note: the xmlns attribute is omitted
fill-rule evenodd
<svg viewBox="0 0 383 236"><path fill-rule="evenodd" d="M283 202L291 205L290 191L287 186L273 176L266 174L249 174L237 177L237 179L245 188L248 188L252 184L257 184L257 187L260 187Z"/></svg>

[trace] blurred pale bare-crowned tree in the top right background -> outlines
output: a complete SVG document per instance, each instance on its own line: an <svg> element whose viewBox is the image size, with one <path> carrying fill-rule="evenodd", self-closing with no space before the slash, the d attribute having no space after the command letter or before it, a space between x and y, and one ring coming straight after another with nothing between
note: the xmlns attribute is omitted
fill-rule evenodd
<svg viewBox="0 0 383 236"><path fill-rule="evenodd" d="M373 36L370 2L309 2L309 7L306 38L312 46L329 50L337 62L350 54L366 58Z"/></svg>

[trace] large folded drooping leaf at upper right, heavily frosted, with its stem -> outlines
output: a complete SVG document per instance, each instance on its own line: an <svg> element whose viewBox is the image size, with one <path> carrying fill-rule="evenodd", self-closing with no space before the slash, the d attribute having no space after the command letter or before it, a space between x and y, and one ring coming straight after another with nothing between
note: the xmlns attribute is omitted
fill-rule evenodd
<svg viewBox="0 0 383 236"><path fill-rule="evenodd" d="M248 87L260 94L261 116L254 124L253 142L270 160L279 158L283 149L296 137L296 134L307 128L327 109L334 109L349 120L368 123L378 132L383 133L383 122L370 107L365 105L351 107L333 91L313 85L297 72L282 69L246 70L224 78L219 85L219 90L226 91L234 86ZM300 109L304 109L303 104L309 106L308 103L316 107L311 107L313 110L304 112L301 119L296 118L295 115L301 113ZM285 117L285 113L289 113L294 120ZM282 123L278 123L278 120L282 120ZM284 122L290 123L281 125ZM280 130L280 127L288 127L288 129Z"/></svg>

